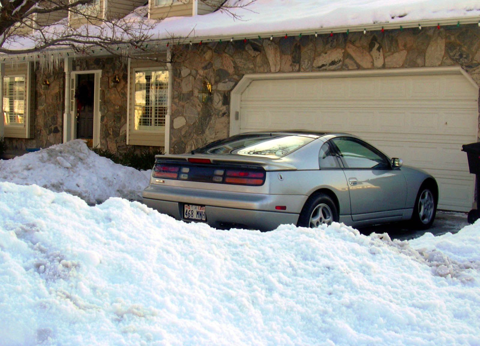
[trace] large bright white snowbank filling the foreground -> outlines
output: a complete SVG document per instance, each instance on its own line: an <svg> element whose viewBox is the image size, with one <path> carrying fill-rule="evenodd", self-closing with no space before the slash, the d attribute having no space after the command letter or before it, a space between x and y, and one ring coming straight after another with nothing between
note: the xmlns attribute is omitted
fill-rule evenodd
<svg viewBox="0 0 480 346"><path fill-rule="evenodd" d="M338 223L219 231L10 183L0 210L2 346L480 344L480 222L415 244L459 280Z"/></svg>

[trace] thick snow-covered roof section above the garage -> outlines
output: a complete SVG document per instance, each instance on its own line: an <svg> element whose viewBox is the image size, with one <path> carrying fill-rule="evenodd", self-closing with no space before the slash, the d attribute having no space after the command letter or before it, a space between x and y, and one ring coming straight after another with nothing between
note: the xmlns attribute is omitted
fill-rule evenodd
<svg viewBox="0 0 480 346"><path fill-rule="evenodd" d="M471 24L479 23L480 0L256 0L231 12L239 19L225 11L166 18L153 38L198 41Z"/></svg>

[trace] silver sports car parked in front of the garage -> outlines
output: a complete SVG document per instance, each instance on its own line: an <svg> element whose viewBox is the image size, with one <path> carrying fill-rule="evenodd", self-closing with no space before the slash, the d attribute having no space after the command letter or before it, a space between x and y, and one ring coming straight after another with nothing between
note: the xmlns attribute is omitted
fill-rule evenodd
<svg viewBox="0 0 480 346"><path fill-rule="evenodd" d="M438 186L356 136L251 132L190 154L157 155L144 203L178 220L272 230L411 220L429 228Z"/></svg>

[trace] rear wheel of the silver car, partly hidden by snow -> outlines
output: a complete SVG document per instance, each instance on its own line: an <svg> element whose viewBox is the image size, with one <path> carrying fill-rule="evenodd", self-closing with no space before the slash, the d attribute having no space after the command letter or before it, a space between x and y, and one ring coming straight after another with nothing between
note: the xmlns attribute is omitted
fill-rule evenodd
<svg viewBox="0 0 480 346"><path fill-rule="evenodd" d="M338 222L338 211L333 199L323 193L312 195L300 212L299 227L316 228L323 223Z"/></svg>

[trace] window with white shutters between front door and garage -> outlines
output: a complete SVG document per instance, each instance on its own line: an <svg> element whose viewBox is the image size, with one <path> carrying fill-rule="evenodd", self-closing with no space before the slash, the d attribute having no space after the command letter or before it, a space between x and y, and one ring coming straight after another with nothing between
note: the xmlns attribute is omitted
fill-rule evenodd
<svg viewBox="0 0 480 346"><path fill-rule="evenodd" d="M155 131L165 126L168 71L135 72L134 129Z"/></svg>

